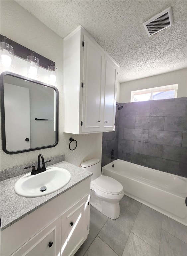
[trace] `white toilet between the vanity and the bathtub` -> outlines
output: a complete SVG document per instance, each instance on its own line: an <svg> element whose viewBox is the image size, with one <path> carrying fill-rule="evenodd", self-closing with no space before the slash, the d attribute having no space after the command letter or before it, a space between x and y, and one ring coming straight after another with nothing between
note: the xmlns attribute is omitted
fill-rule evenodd
<svg viewBox="0 0 187 256"><path fill-rule="evenodd" d="M90 204L107 217L117 219L120 215L119 201L124 196L123 186L117 180L101 175L101 163L97 158L81 163L80 167L93 173Z"/></svg>

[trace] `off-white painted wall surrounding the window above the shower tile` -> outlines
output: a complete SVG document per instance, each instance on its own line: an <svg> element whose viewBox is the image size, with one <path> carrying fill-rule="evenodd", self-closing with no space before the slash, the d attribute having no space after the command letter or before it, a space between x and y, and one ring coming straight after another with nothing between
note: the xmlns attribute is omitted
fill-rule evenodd
<svg viewBox="0 0 187 256"><path fill-rule="evenodd" d="M131 91L178 84L177 98L187 97L187 68L120 84L119 103L131 102Z"/></svg>

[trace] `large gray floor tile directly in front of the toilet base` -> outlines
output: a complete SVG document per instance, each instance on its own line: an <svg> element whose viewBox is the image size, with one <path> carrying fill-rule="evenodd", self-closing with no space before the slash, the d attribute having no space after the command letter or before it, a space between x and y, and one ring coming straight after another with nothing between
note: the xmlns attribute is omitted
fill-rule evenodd
<svg viewBox="0 0 187 256"><path fill-rule="evenodd" d="M118 255L122 255L136 216L127 209L120 207L118 219L108 219L98 234Z"/></svg>

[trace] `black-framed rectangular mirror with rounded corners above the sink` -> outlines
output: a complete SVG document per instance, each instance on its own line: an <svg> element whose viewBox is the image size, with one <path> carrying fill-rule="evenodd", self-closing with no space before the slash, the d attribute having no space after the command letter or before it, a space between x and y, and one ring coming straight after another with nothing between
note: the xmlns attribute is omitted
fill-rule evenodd
<svg viewBox="0 0 187 256"><path fill-rule="evenodd" d="M2 148L7 154L54 147L58 143L58 90L11 72L1 81Z"/></svg>

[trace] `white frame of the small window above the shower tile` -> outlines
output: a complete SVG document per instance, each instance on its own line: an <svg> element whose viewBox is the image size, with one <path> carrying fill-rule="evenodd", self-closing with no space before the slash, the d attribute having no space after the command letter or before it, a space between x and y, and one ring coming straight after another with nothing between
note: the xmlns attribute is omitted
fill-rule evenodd
<svg viewBox="0 0 187 256"><path fill-rule="evenodd" d="M144 93L150 93L150 100L152 100L152 94L153 92L156 91L169 91L169 90L175 90L175 95L174 98L177 98L177 89L178 89L178 84L172 84L172 85L165 85L165 86L158 86L154 88L148 88L148 89L143 89L143 90L137 90L137 91L131 91L131 102L134 102L135 96L144 94Z"/></svg>

